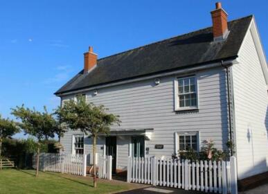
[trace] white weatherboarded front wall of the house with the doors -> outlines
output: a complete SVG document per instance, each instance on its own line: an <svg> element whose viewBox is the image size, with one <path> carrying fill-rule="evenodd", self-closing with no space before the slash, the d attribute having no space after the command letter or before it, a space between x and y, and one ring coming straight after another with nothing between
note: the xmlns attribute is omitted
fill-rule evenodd
<svg viewBox="0 0 268 194"><path fill-rule="evenodd" d="M193 74L191 74L193 75ZM195 72L199 90L199 109L197 111L174 111L175 76L161 78L159 85L154 79L133 82L125 85L102 88L98 95L87 92L87 101L103 104L109 112L120 116L120 126L112 129L154 128L151 141L145 141L150 148L149 155L171 157L175 152L175 132L199 131L199 141L213 139L217 148L225 148L228 141L228 121L226 106L225 71L222 68ZM181 75L178 75L181 76ZM188 76L188 75L186 75ZM73 98L66 96L62 98ZM71 150L71 134L62 138L65 151ZM98 141L99 148L105 141ZM118 168L127 166L130 136L118 136ZM90 141L86 152L90 152ZM163 150L154 149L155 144L164 144ZM102 150L99 150L102 153Z"/></svg>

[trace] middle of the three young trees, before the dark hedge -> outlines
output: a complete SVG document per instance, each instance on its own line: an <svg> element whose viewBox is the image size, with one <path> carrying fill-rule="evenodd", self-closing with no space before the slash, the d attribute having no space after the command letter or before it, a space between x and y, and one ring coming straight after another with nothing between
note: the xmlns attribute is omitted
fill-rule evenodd
<svg viewBox="0 0 268 194"><path fill-rule="evenodd" d="M12 109L11 114L21 120L18 126L24 130L25 134L35 136L37 139L36 176L38 176L40 141L53 138L55 133L59 132L58 122L53 117L53 114L47 112L46 107L44 107L44 112L38 112L35 109L25 108L24 105L17 106Z"/></svg>

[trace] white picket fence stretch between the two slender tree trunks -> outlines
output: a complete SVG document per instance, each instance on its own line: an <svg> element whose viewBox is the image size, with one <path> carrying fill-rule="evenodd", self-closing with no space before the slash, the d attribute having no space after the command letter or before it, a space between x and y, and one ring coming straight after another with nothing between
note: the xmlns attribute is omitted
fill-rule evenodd
<svg viewBox="0 0 268 194"><path fill-rule="evenodd" d="M36 168L36 155L33 156L33 168ZM39 170L86 176L87 155L41 153L39 155Z"/></svg>

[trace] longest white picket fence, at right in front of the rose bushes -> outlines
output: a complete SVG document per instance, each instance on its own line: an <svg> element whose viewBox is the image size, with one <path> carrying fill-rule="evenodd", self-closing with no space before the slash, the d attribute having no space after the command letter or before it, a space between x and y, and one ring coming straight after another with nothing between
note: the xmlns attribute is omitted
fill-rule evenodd
<svg viewBox="0 0 268 194"><path fill-rule="evenodd" d="M214 193L238 193L235 157L230 161L128 159L127 182Z"/></svg>

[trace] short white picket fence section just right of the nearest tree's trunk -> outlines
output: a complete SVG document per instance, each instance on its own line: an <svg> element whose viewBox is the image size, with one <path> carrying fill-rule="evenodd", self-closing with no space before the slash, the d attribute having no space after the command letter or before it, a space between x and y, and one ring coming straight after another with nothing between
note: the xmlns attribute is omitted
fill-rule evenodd
<svg viewBox="0 0 268 194"><path fill-rule="evenodd" d="M102 156L98 157L98 177L100 179L109 179L111 180L111 156Z"/></svg>

